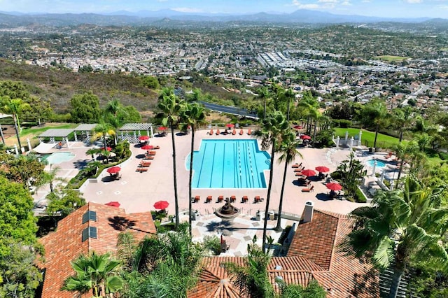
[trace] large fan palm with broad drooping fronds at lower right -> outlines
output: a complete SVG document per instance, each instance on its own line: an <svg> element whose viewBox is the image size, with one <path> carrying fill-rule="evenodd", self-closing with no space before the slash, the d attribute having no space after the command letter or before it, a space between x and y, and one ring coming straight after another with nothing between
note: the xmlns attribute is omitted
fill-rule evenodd
<svg viewBox="0 0 448 298"><path fill-rule="evenodd" d="M409 175L402 190L379 192L372 205L351 212L353 231L343 248L362 257L367 253L379 269L393 266L388 297L396 297L412 257L435 257L448 264L442 238L448 227L448 208L441 205L444 187L426 187Z"/></svg>

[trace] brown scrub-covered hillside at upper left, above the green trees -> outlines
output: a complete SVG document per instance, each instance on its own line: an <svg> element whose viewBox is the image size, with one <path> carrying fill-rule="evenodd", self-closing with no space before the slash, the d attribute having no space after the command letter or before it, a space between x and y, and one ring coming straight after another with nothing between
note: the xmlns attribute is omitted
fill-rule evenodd
<svg viewBox="0 0 448 298"><path fill-rule="evenodd" d="M22 81L32 95L51 99L57 112L64 112L73 94L92 91L104 105L110 99L120 99L124 105L139 111L152 110L158 94L143 87L139 78L107 73L73 73L40 66L16 64L0 59L0 80Z"/></svg>

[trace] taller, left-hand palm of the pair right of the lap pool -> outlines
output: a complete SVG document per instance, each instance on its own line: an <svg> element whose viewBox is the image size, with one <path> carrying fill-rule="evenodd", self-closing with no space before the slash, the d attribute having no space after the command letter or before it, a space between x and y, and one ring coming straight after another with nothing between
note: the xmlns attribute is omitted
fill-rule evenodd
<svg viewBox="0 0 448 298"><path fill-rule="evenodd" d="M261 128L255 132L255 136L258 136L262 140L261 146L263 150L267 150L269 146L271 146L271 170L269 171L269 186L267 187L265 222L263 225L263 253L266 251L267 216L269 214L269 201L271 199L272 180L274 178L274 155L277 143L281 142L283 133L288 127L289 124L288 121L286 121L285 115L280 111L274 111L274 113L268 115L268 117L262 121Z"/></svg>

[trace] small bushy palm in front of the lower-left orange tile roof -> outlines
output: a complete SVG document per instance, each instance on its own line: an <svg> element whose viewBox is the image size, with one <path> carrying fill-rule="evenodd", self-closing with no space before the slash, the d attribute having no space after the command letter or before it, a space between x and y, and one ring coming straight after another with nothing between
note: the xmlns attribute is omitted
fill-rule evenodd
<svg viewBox="0 0 448 298"><path fill-rule="evenodd" d="M94 297L118 292L123 288L123 280L118 276L120 262L111 260L109 253L89 256L80 255L71 263L76 276L70 276L64 282L64 290L85 293L92 290Z"/></svg>

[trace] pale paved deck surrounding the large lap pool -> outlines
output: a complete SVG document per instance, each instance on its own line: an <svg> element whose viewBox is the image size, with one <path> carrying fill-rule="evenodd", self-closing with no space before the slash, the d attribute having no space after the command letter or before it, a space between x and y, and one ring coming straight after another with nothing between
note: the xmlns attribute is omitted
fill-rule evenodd
<svg viewBox="0 0 448 298"><path fill-rule="evenodd" d="M223 130L221 130L222 132ZM239 129L237 130L239 132ZM195 150L200 148L201 139L252 139L244 129L244 135L209 135L209 129L200 130L196 134ZM176 171L177 187L179 197L179 211L188 210L188 180L189 171L186 169L186 158L190 153L191 135L176 135ZM174 181L173 181L173 159L172 159L172 138L171 134L167 136L155 136L150 139L151 145L160 146L156 151L155 158L151 160L151 166L148 171L137 172L137 166L144 157L144 150L141 150L139 144L132 144L132 157L122 164L120 171L122 178L120 180L111 180L109 173L103 171L97 183L88 183L81 190L87 201L93 201L99 204L105 204L109 201L120 202L120 208L124 208L127 213L139 213L155 210L153 204L156 201L165 200L169 202L167 212L174 215ZM260 143L260 142L259 142ZM84 166L90 159L90 155L85 152L89 149L83 143L71 143L71 148L62 148L57 151L69 151L76 154L76 157L69 162L59 164L59 175L64 178L76 176L78 169ZM299 148L298 151L303 158L297 156L295 162L301 163L305 169L314 169L316 166L328 166L330 172L334 171L337 165L346 159L349 150L335 150L334 148L314 149ZM274 163L274 180L272 183L272 194L269 209L278 209L279 197L281 192L281 183L283 178L284 163L278 162L276 155ZM295 163L293 162L293 163ZM293 164L292 163L292 164ZM302 192L302 186L295 184L297 178L292 164L288 165L286 173L286 183L283 195L283 212L301 215L306 201L313 201L317 209L332 211L335 213L349 213L354 208L365 206L366 204L352 203L345 200L329 199L328 189L323 181L314 181L314 192ZM265 171L266 181L269 180L269 171ZM34 194L35 201L42 201L45 194L48 193L48 187L43 187ZM232 233L228 236L230 243L230 255L239 255L246 250L246 243L256 234L258 239L262 234L262 221L253 220L255 213L265 210L266 199L260 203L255 203L255 196L266 198L267 188L265 189L194 189L192 197L200 196L200 201L193 204L193 209L200 214L200 220L193 224L193 237L199 240L204 234L223 234L221 219L213 214L214 209L223 206L223 203L216 203L218 196L224 198L234 196L237 198L234 206L240 208L241 214L233 220ZM206 203L207 196L212 196L212 200ZM243 196L248 197L248 202L241 202ZM188 220L187 216L181 217L181 220ZM292 225L291 220L282 220L282 226ZM268 227L273 227L276 220L269 220ZM255 227L256 226L256 227ZM274 239L279 234L272 230ZM246 241L241 241L242 239ZM248 240L249 239L249 240ZM278 239L278 237L277 237ZM260 241L260 240L259 240ZM240 247L241 246L241 247Z"/></svg>

